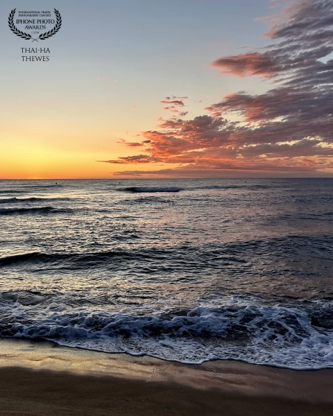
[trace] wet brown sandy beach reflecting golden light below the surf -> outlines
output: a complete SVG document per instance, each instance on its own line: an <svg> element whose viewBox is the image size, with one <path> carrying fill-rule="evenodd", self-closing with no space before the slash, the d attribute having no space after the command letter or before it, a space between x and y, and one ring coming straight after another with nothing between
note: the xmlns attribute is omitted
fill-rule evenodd
<svg viewBox="0 0 333 416"><path fill-rule="evenodd" d="M332 415L333 370L0 342L1 415Z"/></svg>

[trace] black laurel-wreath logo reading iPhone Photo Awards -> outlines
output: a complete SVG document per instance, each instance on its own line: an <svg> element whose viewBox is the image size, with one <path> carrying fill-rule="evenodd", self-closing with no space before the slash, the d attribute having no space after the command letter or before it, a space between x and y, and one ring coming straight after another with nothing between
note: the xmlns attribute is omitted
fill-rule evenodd
<svg viewBox="0 0 333 416"><path fill-rule="evenodd" d="M62 19L59 10L54 9L54 17L51 12L19 11L15 17L16 8L10 12L8 26L12 33L24 40L38 42L56 35L61 28ZM49 30L48 30L49 29Z"/></svg>

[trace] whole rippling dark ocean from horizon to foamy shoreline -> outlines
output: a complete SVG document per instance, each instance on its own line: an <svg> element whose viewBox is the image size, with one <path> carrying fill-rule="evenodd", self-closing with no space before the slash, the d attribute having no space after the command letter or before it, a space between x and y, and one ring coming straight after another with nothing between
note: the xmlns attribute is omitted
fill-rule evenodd
<svg viewBox="0 0 333 416"><path fill-rule="evenodd" d="M333 367L333 179L2 180L0 336Z"/></svg>

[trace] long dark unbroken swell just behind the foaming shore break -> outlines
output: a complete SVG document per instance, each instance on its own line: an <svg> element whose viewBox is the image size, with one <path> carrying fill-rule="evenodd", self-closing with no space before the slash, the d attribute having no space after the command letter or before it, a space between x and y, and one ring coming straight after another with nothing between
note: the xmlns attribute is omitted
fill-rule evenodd
<svg viewBox="0 0 333 416"><path fill-rule="evenodd" d="M0 210L1 212L1 210ZM129 232L128 238L137 238ZM187 245L179 244L170 248L119 248L108 251L85 252L28 252L0 257L0 267L26 266L28 263L55 263L58 268L89 269L96 267L108 270L133 270L135 272L166 272L170 274L188 272L223 273L226 269L239 272L247 265L248 274L253 259L275 253L277 259L288 259L291 254L304 258L333 259L332 236L286 236L284 238L236 241L223 244ZM271 262L275 261L275 257ZM278 265L280 263L278 262ZM272 267L272 265L270 266ZM147 269L148 268L148 269ZM257 273L257 271L255 271ZM285 274L285 270L281 270ZM296 270L298 273L298 270Z"/></svg>

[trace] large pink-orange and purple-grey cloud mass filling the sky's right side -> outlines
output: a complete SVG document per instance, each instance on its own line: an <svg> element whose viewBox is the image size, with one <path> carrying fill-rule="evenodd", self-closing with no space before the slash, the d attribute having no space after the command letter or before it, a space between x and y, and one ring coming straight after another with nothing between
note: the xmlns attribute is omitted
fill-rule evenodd
<svg viewBox="0 0 333 416"><path fill-rule="evenodd" d="M160 103L173 113L155 130L142 132L146 155L119 157L115 164L178 164L135 175L219 176L225 172L316 175L332 173L333 53L332 0L302 0L273 17L264 49L219 58L223 74L268 78L263 94L234 92L206 107L207 114L182 119L187 97ZM230 114L237 120L230 121ZM126 171L130 175L131 171ZM119 173L124 175L125 173Z"/></svg>

